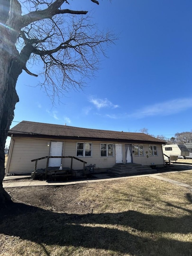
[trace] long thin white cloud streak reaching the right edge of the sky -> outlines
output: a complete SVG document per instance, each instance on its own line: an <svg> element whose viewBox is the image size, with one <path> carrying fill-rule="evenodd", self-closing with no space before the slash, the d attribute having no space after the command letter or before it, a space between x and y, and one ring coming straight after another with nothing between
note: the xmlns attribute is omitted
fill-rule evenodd
<svg viewBox="0 0 192 256"><path fill-rule="evenodd" d="M149 116L169 116L192 108L192 98L165 101L136 110L128 114L130 118L144 118Z"/></svg>

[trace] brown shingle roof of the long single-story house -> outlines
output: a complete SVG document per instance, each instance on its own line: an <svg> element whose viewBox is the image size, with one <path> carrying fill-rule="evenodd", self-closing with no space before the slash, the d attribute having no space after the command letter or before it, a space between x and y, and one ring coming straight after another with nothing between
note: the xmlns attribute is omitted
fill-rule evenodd
<svg viewBox="0 0 192 256"><path fill-rule="evenodd" d="M128 141L145 141L145 142L156 142L158 144L164 144L162 140L152 137L148 134L138 132L121 132L121 131L107 131L107 130L96 130L88 128L79 128L68 125L54 125L38 122L22 121L18 125L10 129L8 134L18 135L33 135L40 137L66 137L69 139L83 139L90 138L95 140L128 140Z"/></svg>

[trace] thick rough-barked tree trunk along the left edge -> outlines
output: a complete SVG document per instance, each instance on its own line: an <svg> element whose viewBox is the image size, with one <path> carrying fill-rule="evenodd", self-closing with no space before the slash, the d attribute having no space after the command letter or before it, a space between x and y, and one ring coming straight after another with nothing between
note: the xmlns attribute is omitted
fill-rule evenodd
<svg viewBox="0 0 192 256"><path fill-rule="evenodd" d="M7 1L5 2L7 4ZM10 200L10 196L3 189L2 185L5 175L4 148L7 132L10 128L11 121L13 120L15 104L19 101L15 90L16 81L19 74L22 72L21 65L18 65L19 53L15 47L18 31L10 29L8 20L10 20L13 13L11 10L18 11L18 15L21 15L21 8L19 5L19 2L15 0L10 2L10 11L7 22L0 26L0 206L7 200ZM11 23L14 23L14 21L16 21L16 18L13 15Z"/></svg>

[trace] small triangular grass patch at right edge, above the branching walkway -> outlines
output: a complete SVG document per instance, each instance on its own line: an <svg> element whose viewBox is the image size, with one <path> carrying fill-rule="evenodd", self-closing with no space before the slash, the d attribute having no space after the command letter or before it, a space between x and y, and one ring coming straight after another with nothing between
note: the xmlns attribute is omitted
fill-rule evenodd
<svg viewBox="0 0 192 256"><path fill-rule="evenodd" d="M179 182L183 182L192 186L192 170L185 171L185 172L177 172L177 173L164 173L161 176L168 179L173 179Z"/></svg>

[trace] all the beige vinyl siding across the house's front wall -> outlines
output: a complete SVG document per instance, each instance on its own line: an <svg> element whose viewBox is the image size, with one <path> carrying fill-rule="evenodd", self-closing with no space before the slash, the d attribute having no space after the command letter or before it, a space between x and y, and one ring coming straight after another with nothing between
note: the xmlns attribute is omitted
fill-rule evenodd
<svg viewBox="0 0 192 256"><path fill-rule="evenodd" d="M79 157L79 159L86 161L89 164L95 164L96 169L111 168L116 163L115 158L115 143L118 142L104 142L104 141L75 141L75 140L51 140L51 139L41 139L41 138L19 138L14 137L13 151L12 154L8 156L8 161L10 162L8 170L6 173L31 173L34 170L35 162L31 162L32 159L40 158L49 155L50 146L47 146L47 142L51 141L62 141L63 142L63 156L75 156L76 157L76 143L86 142L92 143L92 156L91 157ZM113 157L101 157L101 143L113 144ZM122 157L123 163L125 160L125 143L122 144ZM134 144L133 144L134 145ZM155 145L155 144L153 144ZM143 144L144 156L134 156L133 162L142 165L154 164L164 164L164 158L162 154L161 145L157 145L158 156L149 155L149 144ZM148 151L149 158L147 158L146 151ZM37 169L46 167L46 159L39 160L37 164ZM71 165L70 158L62 159L62 166L69 167ZM73 169L80 170L83 169L83 163L73 159Z"/></svg>

